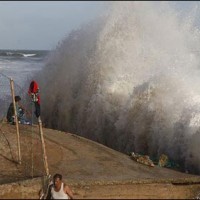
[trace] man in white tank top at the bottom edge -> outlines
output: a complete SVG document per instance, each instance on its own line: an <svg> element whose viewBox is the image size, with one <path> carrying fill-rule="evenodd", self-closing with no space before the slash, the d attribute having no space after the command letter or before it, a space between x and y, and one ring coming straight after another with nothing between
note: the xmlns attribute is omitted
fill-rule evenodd
<svg viewBox="0 0 200 200"><path fill-rule="evenodd" d="M73 193L69 186L62 182L62 175L53 176L53 187L51 188L52 199L73 199Z"/></svg>

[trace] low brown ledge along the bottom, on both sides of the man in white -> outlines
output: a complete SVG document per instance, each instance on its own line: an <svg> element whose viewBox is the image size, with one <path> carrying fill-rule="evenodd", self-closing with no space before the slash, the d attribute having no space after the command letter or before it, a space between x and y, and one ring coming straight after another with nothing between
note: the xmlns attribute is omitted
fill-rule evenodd
<svg viewBox="0 0 200 200"><path fill-rule="evenodd" d="M0 185L1 199L38 199L42 178ZM175 184L174 184L175 183ZM179 184L178 184L179 183ZM77 199L191 199L200 191L199 180L95 181L71 182L69 186Z"/></svg>

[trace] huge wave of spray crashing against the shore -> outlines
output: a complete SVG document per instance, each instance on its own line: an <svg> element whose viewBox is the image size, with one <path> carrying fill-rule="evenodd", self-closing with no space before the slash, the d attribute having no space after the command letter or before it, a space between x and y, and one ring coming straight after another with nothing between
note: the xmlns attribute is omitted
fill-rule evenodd
<svg viewBox="0 0 200 200"><path fill-rule="evenodd" d="M196 9L196 10L195 10ZM200 172L200 33L167 2L114 2L73 31L43 73L47 126Z"/></svg>

